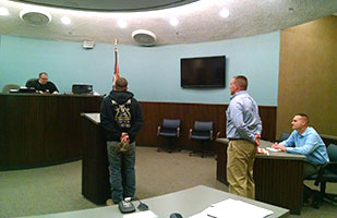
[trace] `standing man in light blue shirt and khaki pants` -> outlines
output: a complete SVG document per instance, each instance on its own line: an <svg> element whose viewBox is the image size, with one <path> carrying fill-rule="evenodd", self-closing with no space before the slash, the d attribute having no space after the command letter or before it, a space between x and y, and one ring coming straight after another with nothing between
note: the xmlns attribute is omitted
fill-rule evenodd
<svg viewBox="0 0 337 218"><path fill-rule="evenodd" d="M253 180L254 159L260 145L262 122L255 100L246 93L248 80L243 75L230 82L230 102L226 111L227 181L229 193L255 198Z"/></svg>

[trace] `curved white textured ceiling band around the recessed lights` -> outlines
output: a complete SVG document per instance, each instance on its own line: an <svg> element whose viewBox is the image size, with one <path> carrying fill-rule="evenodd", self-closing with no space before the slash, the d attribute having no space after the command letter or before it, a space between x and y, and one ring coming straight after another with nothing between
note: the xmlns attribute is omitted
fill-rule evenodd
<svg viewBox="0 0 337 218"><path fill-rule="evenodd" d="M337 0L32 1L41 2L44 5L0 0L0 8L9 10L8 16L0 16L1 35L109 44L118 39L119 44L136 44L131 36L132 32L147 29L157 36L156 45L190 44L270 33L337 12ZM48 2L56 3L59 8L46 7L45 3ZM178 4L179 7L176 7ZM168 7L174 8L153 10ZM34 26L22 21L20 12L27 8L47 11L51 15L51 22ZM226 19L219 15L219 11L224 8L230 13ZM64 25L61 22L62 16L70 17L72 23ZM169 24L171 17L179 20L178 26ZM124 21L128 26L119 27L119 21Z"/></svg>

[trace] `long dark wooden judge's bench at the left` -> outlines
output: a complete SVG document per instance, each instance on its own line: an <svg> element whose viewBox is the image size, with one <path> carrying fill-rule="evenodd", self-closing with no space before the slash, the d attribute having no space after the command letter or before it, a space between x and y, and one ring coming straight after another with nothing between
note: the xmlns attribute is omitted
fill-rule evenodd
<svg viewBox="0 0 337 218"><path fill-rule="evenodd" d="M0 94L0 170L82 158L82 112L98 112L93 95Z"/></svg>

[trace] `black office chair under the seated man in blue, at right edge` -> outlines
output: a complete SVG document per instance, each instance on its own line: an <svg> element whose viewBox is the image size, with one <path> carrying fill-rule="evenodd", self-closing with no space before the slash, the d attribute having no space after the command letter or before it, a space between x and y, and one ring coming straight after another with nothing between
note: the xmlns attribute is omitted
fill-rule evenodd
<svg viewBox="0 0 337 218"><path fill-rule="evenodd" d="M321 168L318 174L311 175L309 179L315 180L315 185L320 185L320 205L324 198L337 203L337 194L325 192L327 182L337 183L337 145L330 144L327 147L327 155L330 161ZM316 205L316 207L320 207L320 205Z"/></svg>

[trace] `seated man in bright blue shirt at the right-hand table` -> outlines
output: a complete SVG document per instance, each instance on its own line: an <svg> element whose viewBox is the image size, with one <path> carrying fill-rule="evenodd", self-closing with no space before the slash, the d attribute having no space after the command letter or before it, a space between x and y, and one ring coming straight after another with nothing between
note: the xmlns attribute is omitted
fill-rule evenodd
<svg viewBox="0 0 337 218"><path fill-rule="evenodd" d="M273 148L279 148L282 152L306 156L303 180L318 173L322 165L329 161L324 142L318 133L308 124L309 118L306 114L296 114L291 122L293 131L288 140L273 145ZM303 201L309 203L313 201L312 191L305 185L303 189Z"/></svg>

